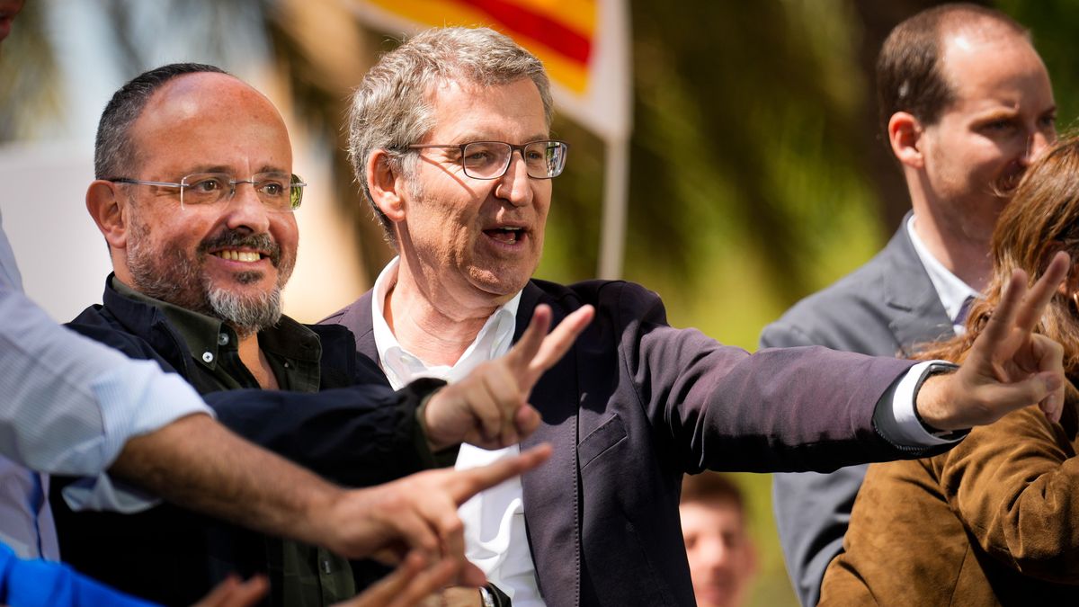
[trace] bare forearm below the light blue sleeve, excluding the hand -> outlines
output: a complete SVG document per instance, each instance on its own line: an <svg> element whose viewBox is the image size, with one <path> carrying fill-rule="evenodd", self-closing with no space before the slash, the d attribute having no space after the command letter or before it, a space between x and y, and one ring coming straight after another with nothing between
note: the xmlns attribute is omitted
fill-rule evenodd
<svg viewBox="0 0 1079 607"><path fill-rule="evenodd" d="M329 530L314 513L343 494L205 415L132 439L109 471L186 508L322 545Z"/></svg>

